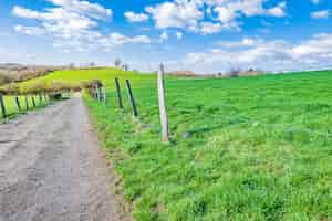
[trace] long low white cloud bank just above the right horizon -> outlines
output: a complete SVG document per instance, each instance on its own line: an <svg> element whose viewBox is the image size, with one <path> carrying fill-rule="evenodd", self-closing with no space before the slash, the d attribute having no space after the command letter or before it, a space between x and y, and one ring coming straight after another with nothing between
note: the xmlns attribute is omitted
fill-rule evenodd
<svg viewBox="0 0 332 221"><path fill-rule="evenodd" d="M218 42L218 45L208 52L188 53L184 63L199 64L215 72L232 67L280 72L319 69L332 63L332 33L317 34L299 44L245 38L238 42Z"/></svg>

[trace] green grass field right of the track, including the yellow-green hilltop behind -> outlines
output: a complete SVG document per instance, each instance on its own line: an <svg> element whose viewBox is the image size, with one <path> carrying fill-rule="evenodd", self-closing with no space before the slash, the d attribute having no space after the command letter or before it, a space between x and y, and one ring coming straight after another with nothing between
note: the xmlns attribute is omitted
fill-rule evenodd
<svg viewBox="0 0 332 221"><path fill-rule="evenodd" d="M116 107L114 76L131 78L139 118ZM331 220L332 72L166 78L172 144L160 143L155 76L102 78L108 103L86 97L136 220ZM184 136L184 134L186 136Z"/></svg>

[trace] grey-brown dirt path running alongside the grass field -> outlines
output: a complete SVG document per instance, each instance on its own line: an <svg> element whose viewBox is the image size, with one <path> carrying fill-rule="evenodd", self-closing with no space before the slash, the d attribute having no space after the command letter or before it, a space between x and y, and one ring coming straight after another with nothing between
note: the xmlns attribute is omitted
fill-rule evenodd
<svg viewBox="0 0 332 221"><path fill-rule="evenodd" d="M123 220L82 98L0 125L0 221Z"/></svg>

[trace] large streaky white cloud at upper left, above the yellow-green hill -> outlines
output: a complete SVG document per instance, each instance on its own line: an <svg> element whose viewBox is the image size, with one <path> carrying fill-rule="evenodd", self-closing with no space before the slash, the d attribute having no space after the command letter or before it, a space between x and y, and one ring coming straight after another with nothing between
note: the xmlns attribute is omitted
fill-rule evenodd
<svg viewBox="0 0 332 221"><path fill-rule="evenodd" d="M35 27L15 25L17 32L29 35L50 35L54 48L64 51L89 51L92 49L112 50L126 43L151 43L146 35L126 36L120 33L101 33L98 21L112 17L112 10L96 3L79 0L49 0L55 8L34 11L19 6L12 13L20 18L34 19Z"/></svg>

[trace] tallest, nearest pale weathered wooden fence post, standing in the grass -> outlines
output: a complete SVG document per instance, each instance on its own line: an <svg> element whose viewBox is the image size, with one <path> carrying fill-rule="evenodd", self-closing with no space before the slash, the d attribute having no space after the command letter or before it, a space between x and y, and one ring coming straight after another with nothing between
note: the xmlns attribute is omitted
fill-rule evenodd
<svg viewBox="0 0 332 221"><path fill-rule="evenodd" d="M160 124L162 124L162 139L165 143L169 141L168 138L168 119L167 119L167 110L165 103L165 87L164 87L164 65L160 64L158 70L158 97L159 97L159 115L160 115Z"/></svg>

